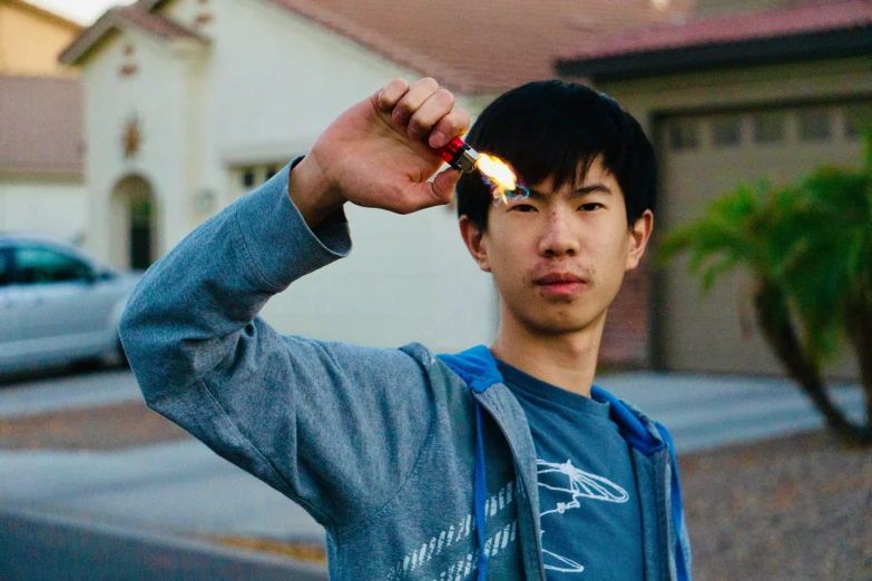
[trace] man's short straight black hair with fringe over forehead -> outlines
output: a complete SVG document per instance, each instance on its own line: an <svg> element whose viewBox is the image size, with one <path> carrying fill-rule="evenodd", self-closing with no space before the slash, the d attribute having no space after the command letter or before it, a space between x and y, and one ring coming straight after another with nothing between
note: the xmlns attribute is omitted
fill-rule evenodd
<svg viewBox="0 0 872 581"><path fill-rule="evenodd" d="M559 80L528 82L491 102L466 136L479 151L512 166L527 185L552 178L555 188L575 184L602 156L615 176L633 226L654 210L657 161L639 122L614 99L582 85ZM479 229L488 225L493 204L478 171L457 186L458 216Z"/></svg>

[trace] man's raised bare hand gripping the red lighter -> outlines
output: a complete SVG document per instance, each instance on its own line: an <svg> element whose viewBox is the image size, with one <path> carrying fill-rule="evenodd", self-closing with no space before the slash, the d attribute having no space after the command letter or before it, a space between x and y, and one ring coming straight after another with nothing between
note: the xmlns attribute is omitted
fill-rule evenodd
<svg viewBox="0 0 872 581"><path fill-rule="evenodd" d="M433 79L394 79L343 112L291 171L288 194L310 227L346 201L411 214L448 204L460 171L437 149L469 128L469 114Z"/></svg>

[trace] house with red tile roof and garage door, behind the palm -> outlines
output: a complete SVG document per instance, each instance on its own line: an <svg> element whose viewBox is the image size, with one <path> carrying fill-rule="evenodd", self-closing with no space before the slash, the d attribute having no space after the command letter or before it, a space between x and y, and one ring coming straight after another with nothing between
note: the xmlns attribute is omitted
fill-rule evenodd
<svg viewBox="0 0 872 581"><path fill-rule="evenodd" d="M860 124L872 111L872 3L768 3L613 36L558 62L561 76L591 79L654 137L656 230L699 216L739 181L785 184L822 164L861 164ZM657 276L649 269L631 297L647 305L646 329L634 335L645 341L631 355L664 370L783 373L746 308L749 284L738 275L700 297L686 260ZM858 376L850 356L832 373Z"/></svg>

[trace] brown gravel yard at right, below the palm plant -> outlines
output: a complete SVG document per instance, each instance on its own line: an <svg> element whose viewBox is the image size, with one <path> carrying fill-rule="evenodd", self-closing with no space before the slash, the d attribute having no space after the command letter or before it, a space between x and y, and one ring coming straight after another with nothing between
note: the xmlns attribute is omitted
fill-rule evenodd
<svg viewBox="0 0 872 581"><path fill-rule="evenodd" d="M872 580L872 450L813 432L678 464L697 581Z"/></svg>

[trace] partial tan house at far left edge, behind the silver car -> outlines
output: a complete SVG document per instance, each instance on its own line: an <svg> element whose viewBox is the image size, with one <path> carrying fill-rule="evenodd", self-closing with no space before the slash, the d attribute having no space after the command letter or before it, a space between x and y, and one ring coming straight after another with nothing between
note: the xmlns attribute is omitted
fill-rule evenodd
<svg viewBox="0 0 872 581"><path fill-rule="evenodd" d="M0 230L86 235L81 87L77 71L58 62L81 30L0 0Z"/></svg>

